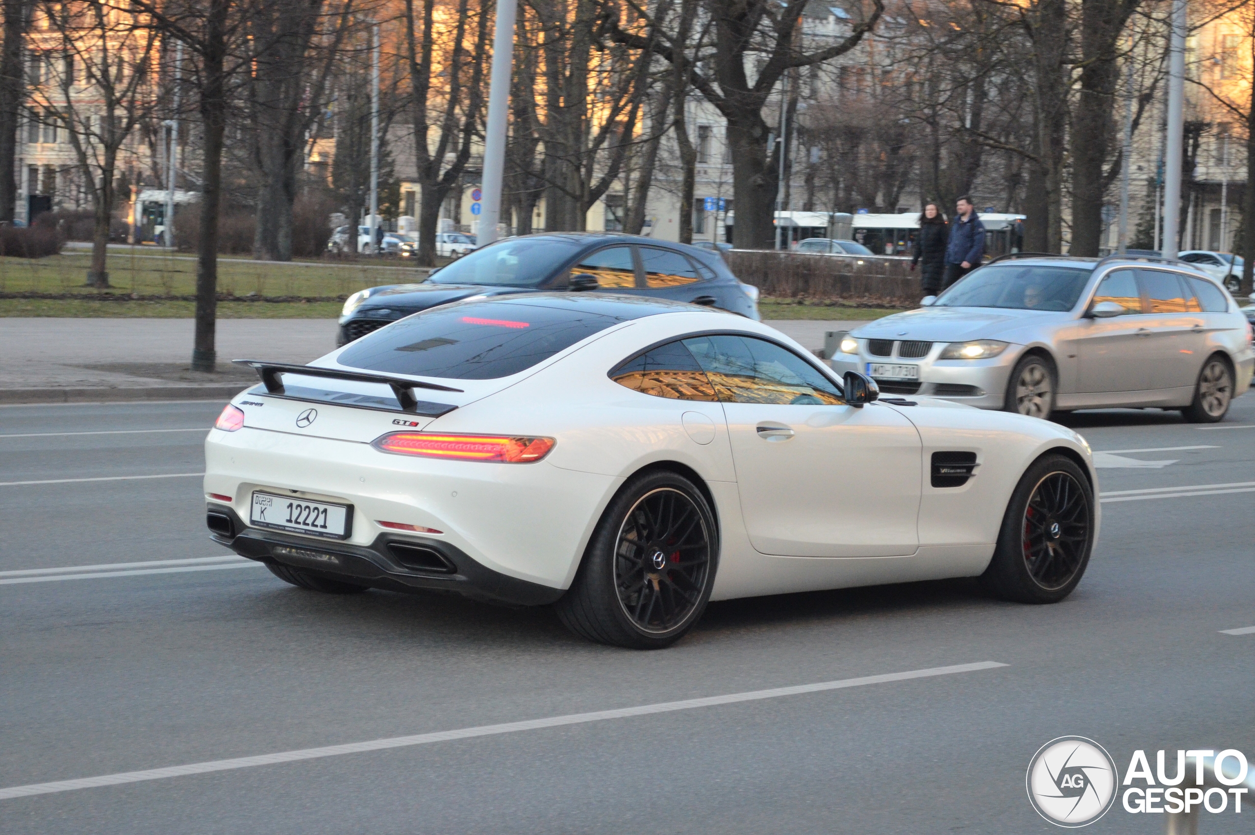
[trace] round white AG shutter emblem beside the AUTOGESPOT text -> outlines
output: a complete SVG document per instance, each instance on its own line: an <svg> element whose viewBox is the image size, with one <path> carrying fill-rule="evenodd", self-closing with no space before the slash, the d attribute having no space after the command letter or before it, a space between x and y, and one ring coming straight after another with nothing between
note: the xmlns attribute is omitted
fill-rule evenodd
<svg viewBox="0 0 1255 835"><path fill-rule="evenodd" d="M1060 736L1050 740L1028 764L1028 799L1037 812L1057 826L1087 826L1116 802L1116 762L1093 740Z"/></svg>

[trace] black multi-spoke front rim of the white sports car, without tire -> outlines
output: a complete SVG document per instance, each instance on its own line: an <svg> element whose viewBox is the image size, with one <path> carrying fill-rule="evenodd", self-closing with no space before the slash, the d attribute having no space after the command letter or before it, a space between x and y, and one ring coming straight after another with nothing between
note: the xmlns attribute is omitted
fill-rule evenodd
<svg viewBox="0 0 1255 835"><path fill-rule="evenodd" d="M1022 548L1029 577L1044 589L1068 584L1089 544L1089 503L1068 473L1052 473L1024 509Z"/></svg>

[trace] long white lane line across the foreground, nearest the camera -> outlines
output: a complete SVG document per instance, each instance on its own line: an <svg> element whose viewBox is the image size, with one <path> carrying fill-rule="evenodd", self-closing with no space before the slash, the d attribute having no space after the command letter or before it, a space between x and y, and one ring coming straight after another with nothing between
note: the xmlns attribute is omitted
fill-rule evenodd
<svg viewBox="0 0 1255 835"><path fill-rule="evenodd" d="M124 771L122 774L107 774L99 777L83 777L79 780L58 780L55 782L36 782L26 786L11 786L9 789L0 789L0 800L6 800L9 797L25 797L28 795L48 795L58 791L74 791L77 789L95 789L97 786L117 786L127 782L142 782L146 780L163 780L166 777L179 777L191 774L207 774L211 771L232 771L236 769L251 769L255 766L276 765L280 762L316 760L320 757L334 757L344 754L363 754L365 751L384 751L388 748L403 748L412 745L427 745L429 742L451 742L453 740L467 740L477 736L496 736L498 733L513 733L516 731L536 731L546 727L561 727L563 725L584 725L586 722L600 722L604 720L628 718L631 716L670 713L673 711L686 711L686 710L693 710L695 707L714 707L717 705L756 702L756 701L762 701L764 698L779 698L781 696L818 693L828 690L845 690L847 687L862 687L865 685L882 685L891 681L910 681L912 678L931 678L934 676L950 676L954 673L976 672L979 670L993 670L995 667L1007 667L1007 666L1008 664L999 663L996 661L979 661L971 664L930 667L927 670L911 670L907 672L886 673L881 676L862 676L860 678L842 678L838 681L825 681L816 685L797 685L794 687L754 690L744 693L708 696L705 698L685 698L679 702L659 702L655 705L641 705L639 707L622 707L619 710L610 710L610 711L595 711L591 713L569 713L566 716L551 716L548 718L527 720L523 722L505 722L502 725L479 725L478 727L464 727L456 731L437 731L434 733L417 733L414 736L393 736L383 740L370 740L369 742L329 745L321 748L281 751L277 754L264 754L252 757L236 757L233 760L211 760L208 762L193 762L190 765L171 766L166 769L149 769L147 771Z"/></svg>

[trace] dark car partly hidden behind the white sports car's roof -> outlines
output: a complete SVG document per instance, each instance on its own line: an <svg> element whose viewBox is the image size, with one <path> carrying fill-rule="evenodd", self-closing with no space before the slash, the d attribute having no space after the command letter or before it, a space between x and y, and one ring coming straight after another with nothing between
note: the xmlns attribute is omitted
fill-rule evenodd
<svg viewBox="0 0 1255 835"><path fill-rule="evenodd" d="M669 298L759 318L758 288L737 281L714 252L626 234L562 232L497 241L423 283L360 290L344 302L339 344L462 298L555 290Z"/></svg>

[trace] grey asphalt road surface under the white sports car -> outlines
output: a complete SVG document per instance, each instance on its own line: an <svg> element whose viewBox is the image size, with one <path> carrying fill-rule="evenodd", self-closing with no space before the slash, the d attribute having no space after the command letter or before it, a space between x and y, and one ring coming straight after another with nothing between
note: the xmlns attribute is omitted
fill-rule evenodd
<svg viewBox="0 0 1255 835"><path fill-rule="evenodd" d="M1054 737L1122 770L1135 748L1255 759L1255 634L1220 632L1255 626L1255 395L1215 428L1069 419L1117 451L1062 604L969 580L734 601L653 653L545 609L321 596L225 558L183 475L220 407L0 407L0 832L1047 832L1024 772ZM1005 666L847 681L976 662ZM818 682L857 686L3 794ZM1163 826L1117 805L1089 831Z"/></svg>

